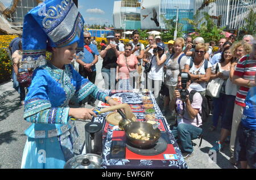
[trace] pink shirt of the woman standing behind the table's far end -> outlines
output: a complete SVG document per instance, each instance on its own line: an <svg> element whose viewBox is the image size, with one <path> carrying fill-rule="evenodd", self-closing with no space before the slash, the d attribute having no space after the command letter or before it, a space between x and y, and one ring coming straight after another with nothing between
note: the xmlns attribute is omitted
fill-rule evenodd
<svg viewBox="0 0 256 180"><path fill-rule="evenodd" d="M133 71L135 70L135 65L138 64L138 59L136 55L131 54L129 57L126 57L127 64L129 66L129 70ZM117 59L117 66L119 67L119 78L120 79L129 79L129 70L126 65L125 61L125 54L120 54Z"/></svg>

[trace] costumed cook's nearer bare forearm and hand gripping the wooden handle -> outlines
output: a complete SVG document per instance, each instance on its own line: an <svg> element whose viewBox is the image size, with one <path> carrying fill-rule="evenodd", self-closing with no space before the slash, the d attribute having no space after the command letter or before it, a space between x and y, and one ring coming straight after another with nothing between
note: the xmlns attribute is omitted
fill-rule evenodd
<svg viewBox="0 0 256 180"><path fill-rule="evenodd" d="M68 115L76 119L92 119L92 115L97 117L97 115L93 112L93 109L94 108L70 108Z"/></svg>

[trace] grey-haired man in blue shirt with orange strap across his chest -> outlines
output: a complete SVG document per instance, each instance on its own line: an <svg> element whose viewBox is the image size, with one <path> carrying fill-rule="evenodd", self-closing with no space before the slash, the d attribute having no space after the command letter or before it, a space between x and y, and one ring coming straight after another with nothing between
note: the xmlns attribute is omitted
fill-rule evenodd
<svg viewBox="0 0 256 180"><path fill-rule="evenodd" d="M97 46L92 43L92 36L90 32L84 32L84 54L80 55L79 58L76 59L76 62L79 63L79 74L84 78L88 78L90 82L95 83L96 79L96 66L95 64L98 62L98 49ZM95 98L89 96L88 104L95 106L94 102Z"/></svg>

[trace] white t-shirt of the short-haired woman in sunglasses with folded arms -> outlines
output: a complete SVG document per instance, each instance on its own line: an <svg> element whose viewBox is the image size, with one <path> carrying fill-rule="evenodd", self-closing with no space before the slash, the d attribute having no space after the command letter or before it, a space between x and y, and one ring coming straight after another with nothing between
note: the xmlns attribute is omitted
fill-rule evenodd
<svg viewBox="0 0 256 180"><path fill-rule="evenodd" d="M185 64L189 66L190 61L191 61L191 58L189 58ZM205 61L207 60L204 59L203 64L199 68L196 68L195 64L193 63L193 66L190 68L189 72L194 75L198 75L198 74L205 75L205 69L204 69ZM209 67L212 67L212 64L208 61L207 68ZM201 83L191 82L189 87L191 87L192 89L195 89L197 92L201 92L201 91L205 91L205 84L206 84L205 82L201 82Z"/></svg>

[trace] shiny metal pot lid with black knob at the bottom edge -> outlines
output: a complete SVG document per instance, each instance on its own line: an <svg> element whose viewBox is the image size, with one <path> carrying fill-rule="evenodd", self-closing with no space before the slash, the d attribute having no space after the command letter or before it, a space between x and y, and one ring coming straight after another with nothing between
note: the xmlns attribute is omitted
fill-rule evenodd
<svg viewBox="0 0 256 180"><path fill-rule="evenodd" d="M78 155L66 162L64 169L100 169L102 157L94 154Z"/></svg>

